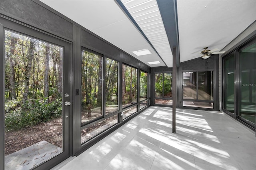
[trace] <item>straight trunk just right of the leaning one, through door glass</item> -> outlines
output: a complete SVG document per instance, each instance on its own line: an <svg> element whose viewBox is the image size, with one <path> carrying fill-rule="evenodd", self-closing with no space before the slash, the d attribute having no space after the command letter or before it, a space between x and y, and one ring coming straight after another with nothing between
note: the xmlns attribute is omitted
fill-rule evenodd
<svg viewBox="0 0 256 170"><path fill-rule="evenodd" d="M44 62L44 97L49 97L49 65L50 65L50 45L46 44L46 55ZM49 101L49 99L48 99Z"/></svg>

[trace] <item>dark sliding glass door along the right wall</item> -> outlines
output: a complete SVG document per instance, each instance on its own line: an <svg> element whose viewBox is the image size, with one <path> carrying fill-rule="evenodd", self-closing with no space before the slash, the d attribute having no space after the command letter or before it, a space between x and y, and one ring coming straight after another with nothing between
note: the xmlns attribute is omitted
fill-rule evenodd
<svg viewBox="0 0 256 170"><path fill-rule="evenodd" d="M255 38L223 58L223 109L255 128Z"/></svg>

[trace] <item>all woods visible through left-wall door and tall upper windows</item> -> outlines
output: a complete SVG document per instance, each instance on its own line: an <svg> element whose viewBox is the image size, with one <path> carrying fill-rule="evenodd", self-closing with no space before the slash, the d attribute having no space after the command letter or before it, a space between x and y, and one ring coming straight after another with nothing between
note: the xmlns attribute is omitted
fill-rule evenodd
<svg viewBox="0 0 256 170"><path fill-rule="evenodd" d="M62 57L62 47L5 32L6 130L36 125L62 115ZM118 61L82 50L81 67L82 123L103 115L103 94L105 114L117 111ZM123 65L121 76L122 103L126 107L137 102L137 69ZM140 100L147 98L147 76L140 71Z"/></svg>

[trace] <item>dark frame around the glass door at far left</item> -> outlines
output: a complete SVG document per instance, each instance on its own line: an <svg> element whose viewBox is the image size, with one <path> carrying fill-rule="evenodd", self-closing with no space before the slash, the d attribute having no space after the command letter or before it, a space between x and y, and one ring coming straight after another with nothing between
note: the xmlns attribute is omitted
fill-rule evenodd
<svg viewBox="0 0 256 170"><path fill-rule="evenodd" d="M60 38L58 36L55 36L53 34L50 34L48 32L44 32L42 30L39 30L37 28L34 28L32 26L29 26L29 25L26 25L22 22L19 22L19 21L16 21L16 20L10 20L8 18L2 18L2 16L0 16L0 20L1 20L1 23L0 24L0 38L1 38L1 42L0 42L0 49L2 51L2 56L4 56L4 31L5 30L8 30L10 32L14 32L14 33L17 33L17 34L21 34L21 35L24 35L24 36L27 36L27 37L30 37L30 38L33 38L33 39L36 39L36 40L40 40L40 41L43 41L43 42L46 42L46 43L50 43L50 44L53 44L53 45L57 45L59 47L63 47L63 56L66 56L66 57L63 57L63 65L68 65L69 68L67 68L66 70L63 69L63 75L64 74L68 74L70 75L71 74L71 70L72 70L72 55L71 55L71 52L72 52L72 42L68 41L68 40L65 40L63 38ZM69 57L68 57L69 56ZM65 59L65 58L69 58L69 59ZM3 59L3 62L2 62L2 59ZM70 61L68 61L70 60ZM4 74L5 74L5 71L4 71L4 57L0 57L0 67L3 69L3 72L1 72L2 74L0 75L0 79L4 80ZM2 81L4 82L4 81ZM67 77L66 80L64 81L63 79L63 83L67 83L69 82L68 84L68 88L69 90L66 89L66 91L68 91L69 94L72 94L72 79L71 77ZM0 98L0 106L1 106L1 110L3 110L2 113L4 113L4 85L2 87L2 84L3 83L0 83L0 94L2 94L2 90L3 90L3 98ZM63 89L64 91L64 89ZM64 93L64 92L63 92ZM72 101L72 95L69 96L69 98L66 98L66 100L68 101ZM63 101L64 102L64 101ZM65 114L65 117L68 116L68 117L71 117L72 115L72 111L71 111L71 107L69 109L65 109L66 111L63 112L63 122L64 122L64 114ZM68 111L68 112L67 112ZM69 130L69 127L70 127L70 124L71 124L71 120L70 121L65 121L65 126L63 126L63 151L65 152L62 152L60 154L58 154L57 156L51 158L50 160L47 160L46 162L42 162L41 164L38 164L36 166L36 168L41 168L41 167L51 167L52 165L56 165L56 163L58 162L61 162L64 160L64 158L68 157L71 155L71 136L70 136L70 130ZM4 114L0 114L0 129L1 129L1 132L4 131ZM0 140L0 151L3 151L1 152L2 154L0 154L0 169L4 169L4 133L0 133L1 135L3 136L0 136L0 138L2 140ZM68 137L68 138L66 138ZM63 155L64 154L64 155ZM63 156L62 156L63 155ZM3 166L3 167L2 167Z"/></svg>

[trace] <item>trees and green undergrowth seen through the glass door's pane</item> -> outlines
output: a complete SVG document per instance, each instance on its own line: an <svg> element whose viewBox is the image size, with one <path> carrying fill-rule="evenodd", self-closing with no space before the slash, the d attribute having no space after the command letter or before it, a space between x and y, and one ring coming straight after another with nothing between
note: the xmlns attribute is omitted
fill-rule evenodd
<svg viewBox="0 0 256 170"><path fill-rule="evenodd" d="M62 115L63 48L5 31L5 127Z"/></svg>

